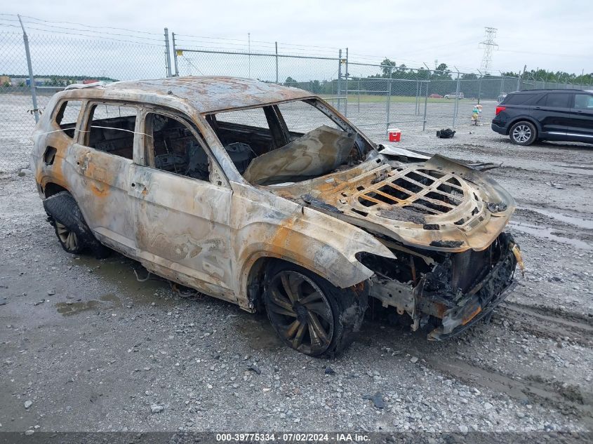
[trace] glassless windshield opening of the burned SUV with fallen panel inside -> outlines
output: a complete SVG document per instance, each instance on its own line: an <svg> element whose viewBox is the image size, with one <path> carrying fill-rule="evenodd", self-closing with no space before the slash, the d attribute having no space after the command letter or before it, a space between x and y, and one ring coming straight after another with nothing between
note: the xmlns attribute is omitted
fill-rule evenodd
<svg viewBox="0 0 593 444"><path fill-rule="evenodd" d="M317 105L317 106L316 106ZM364 161L373 146L354 128L322 111L321 102L277 105L206 115L239 173L251 184L291 184Z"/></svg>

